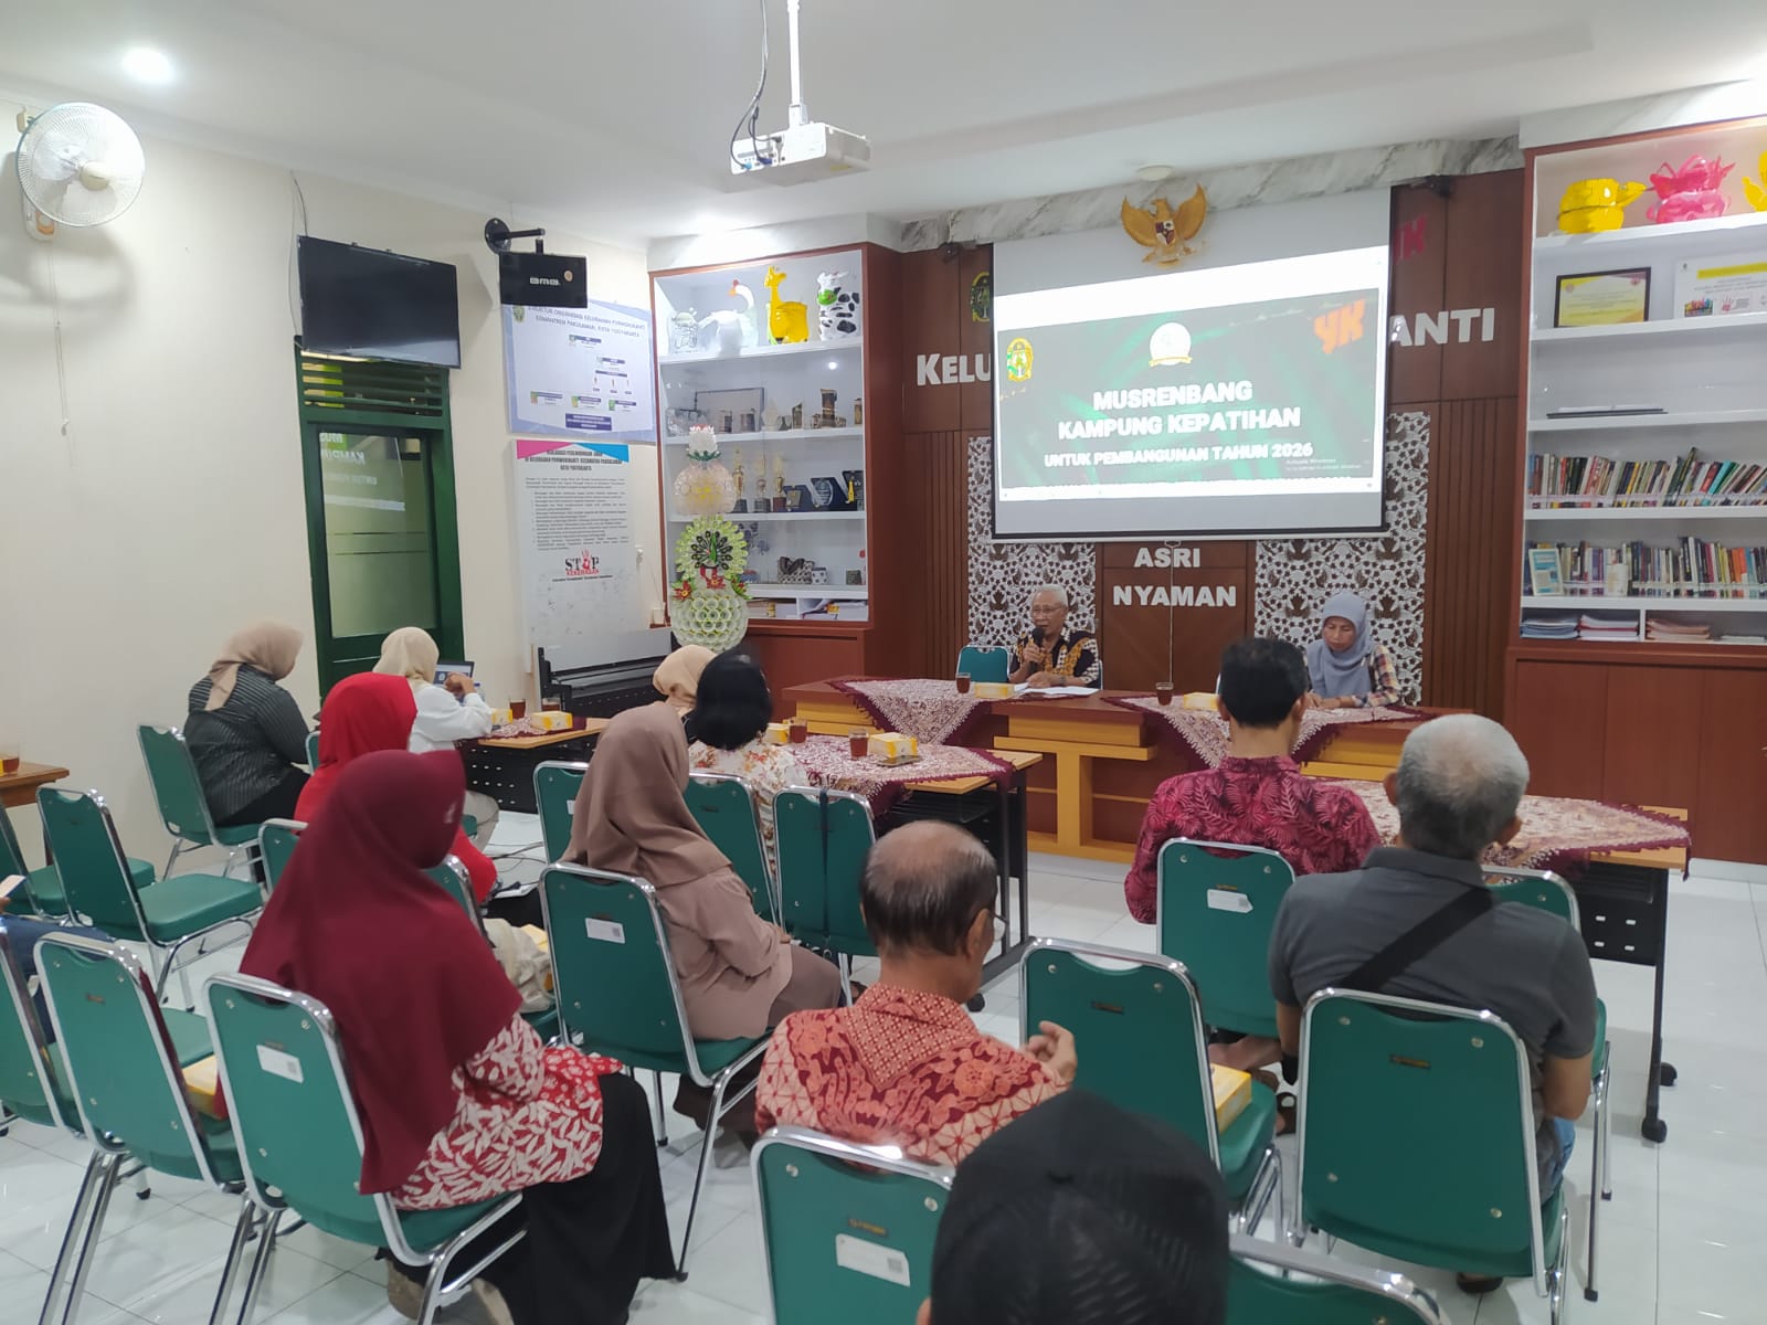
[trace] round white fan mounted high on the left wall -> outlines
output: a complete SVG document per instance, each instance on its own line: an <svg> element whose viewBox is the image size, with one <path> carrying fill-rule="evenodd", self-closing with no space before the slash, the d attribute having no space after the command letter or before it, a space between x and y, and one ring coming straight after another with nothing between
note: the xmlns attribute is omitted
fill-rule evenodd
<svg viewBox="0 0 1767 1325"><path fill-rule="evenodd" d="M141 193L141 140L102 106L71 101L41 115L19 111L18 182L25 228L51 238L57 226L101 226Z"/></svg>

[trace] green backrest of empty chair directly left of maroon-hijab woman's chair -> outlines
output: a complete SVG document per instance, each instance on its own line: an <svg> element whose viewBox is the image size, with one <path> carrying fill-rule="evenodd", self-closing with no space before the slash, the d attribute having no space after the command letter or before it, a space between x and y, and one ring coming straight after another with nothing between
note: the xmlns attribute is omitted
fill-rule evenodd
<svg viewBox="0 0 1767 1325"><path fill-rule="evenodd" d="M87 1136L161 1173L216 1184L203 1124L136 956L122 943L51 933L37 943L37 973Z"/></svg>

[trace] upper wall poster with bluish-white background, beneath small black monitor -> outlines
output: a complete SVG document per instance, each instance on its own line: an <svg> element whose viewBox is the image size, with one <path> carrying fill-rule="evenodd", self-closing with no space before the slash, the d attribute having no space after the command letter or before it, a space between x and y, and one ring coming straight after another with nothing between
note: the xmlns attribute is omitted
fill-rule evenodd
<svg viewBox="0 0 1767 1325"><path fill-rule="evenodd" d="M654 353L645 309L505 304L509 431L656 442Z"/></svg>

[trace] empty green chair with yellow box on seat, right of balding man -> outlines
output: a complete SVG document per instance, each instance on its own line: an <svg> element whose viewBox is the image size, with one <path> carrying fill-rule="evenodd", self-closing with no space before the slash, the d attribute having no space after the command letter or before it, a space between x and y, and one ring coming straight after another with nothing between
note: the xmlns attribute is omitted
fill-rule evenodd
<svg viewBox="0 0 1767 1325"><path fill-rule="evenodd" d="M1101 965L1108 963L1108 965ZM1283 1215L1276 1152L1276 1095L1251 1083L1251 1104L1216 1127L1214 1081L1202 1003L1182 963L1147 952L1039 938L1020 961L1020 1032L1053 1021L1074 1035L1074 1085L1119 1108L1159 1118L1209 1152L1221 1170L1239 1231L1256 1230L1276 1198Z"/></svg>

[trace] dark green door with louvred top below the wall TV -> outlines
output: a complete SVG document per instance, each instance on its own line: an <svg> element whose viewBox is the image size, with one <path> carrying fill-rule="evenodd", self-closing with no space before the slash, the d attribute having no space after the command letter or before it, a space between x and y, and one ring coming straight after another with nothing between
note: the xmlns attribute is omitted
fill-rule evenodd
<svg viewBox="0 0 1767 1325"><path fill-rule="evenodd" d="M320 691L399 625L465 657L445 369L300 355Z"/></svg>

